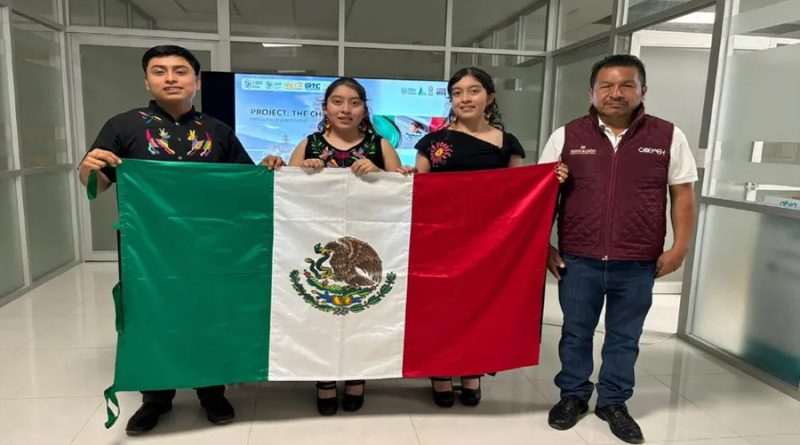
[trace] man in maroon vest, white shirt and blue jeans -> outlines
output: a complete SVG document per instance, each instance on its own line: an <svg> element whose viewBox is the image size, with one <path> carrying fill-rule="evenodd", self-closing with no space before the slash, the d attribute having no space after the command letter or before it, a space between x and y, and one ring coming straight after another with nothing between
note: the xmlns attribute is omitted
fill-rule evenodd
<svg viewBox="0 0 800 445"><path fill-rule="evenodd" d="M596 63L589 114L556 130L540 160L570 168L558 208L559 248L551 247L548 258L564 313L555 378L561 401L548 421L566 430L588 411L592 338L605 303L595 414L629 443L644 442L625 406L633 395L639 337L654 280L678 269L689 249L697 180L686 136L645 114L646 92L637 57L614 55ZM665 251L668 193L675 242Z"/></svg>

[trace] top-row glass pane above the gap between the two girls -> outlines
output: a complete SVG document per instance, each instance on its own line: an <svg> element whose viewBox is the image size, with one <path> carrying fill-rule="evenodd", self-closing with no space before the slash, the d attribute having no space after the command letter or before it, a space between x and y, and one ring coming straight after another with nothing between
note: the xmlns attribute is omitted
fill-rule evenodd
<svg viewBox="0 0 800 445"><path fill-rule="evenodd" d="M446 0L347 0L345 7L349 42L444 45Z"/></svg>

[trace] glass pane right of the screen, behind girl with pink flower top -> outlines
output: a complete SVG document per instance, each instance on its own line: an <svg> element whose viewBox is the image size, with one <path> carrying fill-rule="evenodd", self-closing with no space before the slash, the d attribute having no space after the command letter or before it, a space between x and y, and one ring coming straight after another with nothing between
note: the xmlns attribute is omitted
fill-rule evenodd
<svg viewBox="0 0 800 445"><path fill-rule="evenodd" d="M543 59L500 56L491 54L455 53L453 73L461 68L476 66L492 76L497 89L506 131L514 134L525 148L527 163L536 163L541 121Z"/></svg>

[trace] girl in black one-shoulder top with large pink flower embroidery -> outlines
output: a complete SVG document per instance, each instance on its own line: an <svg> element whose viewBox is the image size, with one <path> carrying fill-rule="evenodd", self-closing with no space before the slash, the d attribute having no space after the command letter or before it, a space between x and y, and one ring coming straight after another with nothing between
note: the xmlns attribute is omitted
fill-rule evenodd
<svg viewBox="0 0 800 445"><path fill-rule="evenodd" d="M429 173L519 167L525 151L505 131L491 76L480 68L463 68L447 84L450 124L429 133L416 145L415 168L404 173ZM564 182L569 170L559 164L555 174ZM431 377L434 402L449 408L455 403L451 377ZM461 377L461 402L476 406L481 400L480 376Z"/></svg>

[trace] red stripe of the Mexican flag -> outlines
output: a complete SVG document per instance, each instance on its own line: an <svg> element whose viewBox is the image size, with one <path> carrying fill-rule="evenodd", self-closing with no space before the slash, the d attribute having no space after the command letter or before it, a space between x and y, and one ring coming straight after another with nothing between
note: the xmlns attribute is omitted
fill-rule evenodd
<svg viewBox="0 0 800 445"><path fill-rule="evenodd" d="M415 176L404 376L538 363L553 168Z"/></svg>

